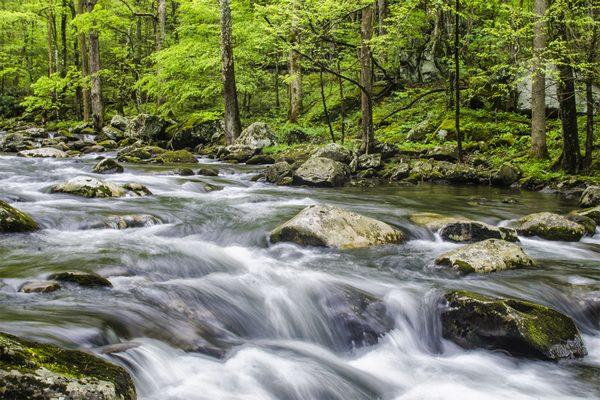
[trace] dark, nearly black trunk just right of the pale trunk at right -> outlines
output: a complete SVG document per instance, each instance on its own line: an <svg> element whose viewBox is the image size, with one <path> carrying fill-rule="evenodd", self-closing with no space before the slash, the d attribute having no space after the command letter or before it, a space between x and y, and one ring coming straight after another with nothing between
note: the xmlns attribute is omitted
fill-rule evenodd
<svg viewBox="0 0 600 400"><path fill-rule="evenodd" d="M558 84L558 100L563 134L562 167L569 174L579 171L581 153L577 130L577 104L575 102L575 77L569 64L558 66L560 82Z"/></svg>

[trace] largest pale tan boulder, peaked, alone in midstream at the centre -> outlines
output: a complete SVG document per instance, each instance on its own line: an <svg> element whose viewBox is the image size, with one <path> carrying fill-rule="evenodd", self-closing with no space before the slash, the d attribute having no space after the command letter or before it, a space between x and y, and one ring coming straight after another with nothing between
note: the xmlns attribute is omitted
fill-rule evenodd
<svg viewBox="0 0 600 400"><path fill-rule="evenodd" d="M400 243L404 234L376 219L334 206L317 205L306 207L275 228L271 241L352 249Z"/></svg>

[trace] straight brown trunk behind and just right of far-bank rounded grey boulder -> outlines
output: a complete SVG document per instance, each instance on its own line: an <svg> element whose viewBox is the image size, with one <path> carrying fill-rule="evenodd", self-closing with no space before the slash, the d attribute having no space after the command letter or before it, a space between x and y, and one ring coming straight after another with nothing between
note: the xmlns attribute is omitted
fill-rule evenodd
<svg viewBox="0 0 600 400"><path fill-rule="evenodd" d="M373 147L373 66L369 41L373 37L373 5L362 10L360 22L360 84L363 87L360 96L361 109L361 152L368 154Z"/></svg>

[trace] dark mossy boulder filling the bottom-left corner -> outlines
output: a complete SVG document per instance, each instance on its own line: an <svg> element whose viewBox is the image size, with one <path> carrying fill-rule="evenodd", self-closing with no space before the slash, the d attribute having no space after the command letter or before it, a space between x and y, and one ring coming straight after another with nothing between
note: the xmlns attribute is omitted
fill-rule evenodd
<svg viewBox="0 0 600 400"><path fill-rule="evenodd" d="M0 333L0 398L134 400L124 368L76 350Z"/></svg>

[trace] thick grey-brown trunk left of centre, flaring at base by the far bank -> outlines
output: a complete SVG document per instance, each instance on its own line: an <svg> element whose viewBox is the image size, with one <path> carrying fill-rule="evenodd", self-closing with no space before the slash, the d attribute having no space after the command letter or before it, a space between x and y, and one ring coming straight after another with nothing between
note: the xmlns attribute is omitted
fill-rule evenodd
<svg viewBox="0 0 600 400"><path fill-rule="evenodd" d="M223 79L223 102L225 103L225 139L228 144L231 144L242 132L242 123L235 85L229 1L219 0L221 5L221 77Z"/></svg>

